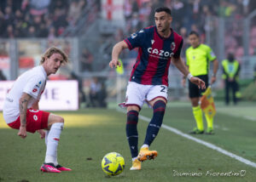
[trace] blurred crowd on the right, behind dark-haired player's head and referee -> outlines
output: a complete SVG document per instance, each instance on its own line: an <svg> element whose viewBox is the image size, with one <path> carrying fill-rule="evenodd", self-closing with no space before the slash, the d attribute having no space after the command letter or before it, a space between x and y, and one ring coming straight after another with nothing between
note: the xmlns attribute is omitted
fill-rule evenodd
<svg viewBox="0 0 256 182"><path fill-rule="evenodd" d="M242 19L256 8L256 2L250 0L125 0L124 14L126 27L125 35L129 35L143 27L154 25L154 9L166 6L172 9L172 28L182 35L183 49L189 47L187 40L189 31L197 31L201 42L205 43L206 31L211 27L207 18L222 17L229 20L225 31L226 52L243 55L242 48ZM249 54L256 54L256 22L251 25ZM212 21L213 24L213 21ZM212 25L211 25L212 26ZM218 27L218 22L215 25ZM116 39L122 39L119 36Z"/></svg>

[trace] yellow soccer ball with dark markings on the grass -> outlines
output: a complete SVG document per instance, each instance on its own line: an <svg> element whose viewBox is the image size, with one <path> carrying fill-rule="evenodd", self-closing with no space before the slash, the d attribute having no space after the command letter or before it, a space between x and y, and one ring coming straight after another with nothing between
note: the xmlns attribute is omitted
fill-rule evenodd
<svg viewBox="0 0 256 182"><path fill-rule="evenodd" d="M117 152L110 152L102 158L102 170L109 176L122 173L125 168L125 159Z"/></svg>

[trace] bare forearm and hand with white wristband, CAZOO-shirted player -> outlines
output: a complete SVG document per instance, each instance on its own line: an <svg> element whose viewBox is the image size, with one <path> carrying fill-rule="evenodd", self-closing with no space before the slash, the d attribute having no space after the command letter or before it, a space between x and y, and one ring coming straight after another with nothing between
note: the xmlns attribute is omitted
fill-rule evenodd
<svg viewBox="0 0 256 182"><path fill-rule="evenodd" d="M173 64L177 67L177 69L181 71L185 77L188 77L190 82L193 82L194 84L196 84L198 88L206 88L206 83L204 81L202 81L198 77L193 77L189 73L187 66L184 64L180 56L178 58L172 57L172 60L173 60Z"/></svg>

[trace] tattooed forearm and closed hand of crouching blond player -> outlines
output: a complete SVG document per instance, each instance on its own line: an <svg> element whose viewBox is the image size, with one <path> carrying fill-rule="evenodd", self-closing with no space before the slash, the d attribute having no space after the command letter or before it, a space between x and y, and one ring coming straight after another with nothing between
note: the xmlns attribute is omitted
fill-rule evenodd
<svg viewBox="0 0 256 182"><path fill-rule="evenodd" d="M31 99L29 94L23 93L20 97L19 108L20 108L20 130L18 135L22 138L26 138L26 110L28 100Z"/></svg>

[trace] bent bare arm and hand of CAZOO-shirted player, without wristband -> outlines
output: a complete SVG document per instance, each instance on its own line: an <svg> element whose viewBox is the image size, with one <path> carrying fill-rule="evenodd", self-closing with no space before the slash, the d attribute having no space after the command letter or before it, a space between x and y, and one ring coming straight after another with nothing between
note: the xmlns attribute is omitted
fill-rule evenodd
<svg viewBox="0 0 256 182"><path fill-rule="evenodd" d="M112 50L112 60L109 62L109 66L111 68L120 66L121 63L119 61L119 54L122 52L123 49L128 48L128 45L125 43L125 41L121 41L119 43L116 43L113 46Z"/></svg>

